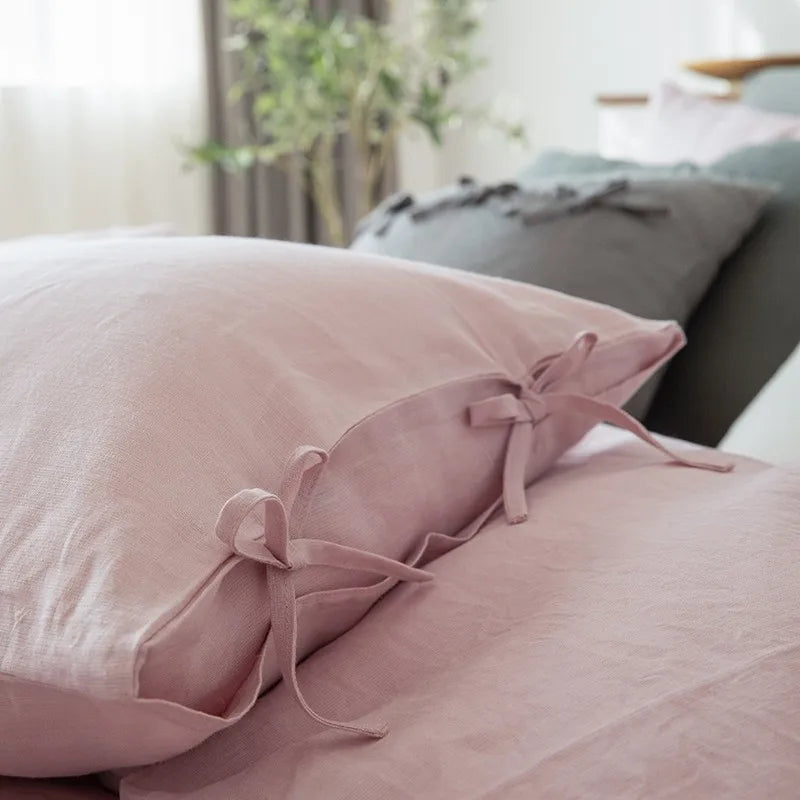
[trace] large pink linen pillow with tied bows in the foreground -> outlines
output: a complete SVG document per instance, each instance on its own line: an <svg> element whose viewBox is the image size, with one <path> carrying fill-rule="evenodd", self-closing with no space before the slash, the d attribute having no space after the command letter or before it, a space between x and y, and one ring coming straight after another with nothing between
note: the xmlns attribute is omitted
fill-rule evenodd
<svg viewBox="0 0 800 800"><path fill-rule="evenodd" d="M683 341L247 239L11 243L0 298L0 773L23 776L174 755L281 676L313 715L295 661L501 492L523 519L524 484Z"/></svg>

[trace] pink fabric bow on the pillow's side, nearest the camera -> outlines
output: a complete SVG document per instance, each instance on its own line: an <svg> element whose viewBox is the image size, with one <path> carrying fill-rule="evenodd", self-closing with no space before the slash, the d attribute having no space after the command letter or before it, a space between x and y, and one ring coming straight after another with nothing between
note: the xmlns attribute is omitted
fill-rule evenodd
<svg viewBox="0 0 800 800"><path fill-rule="evenodd" d="M431 580L433 575L400 561L335 542L289 538L289 522L295 499L327 460L328 454L324 450L298 448L286 469L281 496L263 489L238 492L222 507L216 533L238 555L266 565L267 594L278 666L302 709L328 727L379 739L388 732L385 725L363 727L325 719L311 709L303 697L296 671L297 598L294 575L306 566L338 567L415 582ZM253 526L243 523L259 505L263 506L264 525L262 530L256 528L254 531Z"/></svg>

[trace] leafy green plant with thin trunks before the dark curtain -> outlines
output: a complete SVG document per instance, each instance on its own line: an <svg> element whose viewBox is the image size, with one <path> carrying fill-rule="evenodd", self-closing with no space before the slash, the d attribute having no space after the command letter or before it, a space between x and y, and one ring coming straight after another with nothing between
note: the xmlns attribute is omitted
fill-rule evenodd
<svg viewBox="0 0 800 800"><path fill-rule="evenodd" d="M208 141L191 150L192 158L240 170L257 162L288 168L299 157L331 242L344 245L349 232L336 180L342 136L351 137L357 154L359 216L381 199L387 160L406 128L422 128L441 145L448 127L469 118L521 138L518 126L454 96L483 65L472 53L479 29L474 0L415 5L402 34L391 13L382 21L321 16L309 0L229 0L234 34L225 45L237 62L230 99L247 104L250 140L237 147Z"/></svg>

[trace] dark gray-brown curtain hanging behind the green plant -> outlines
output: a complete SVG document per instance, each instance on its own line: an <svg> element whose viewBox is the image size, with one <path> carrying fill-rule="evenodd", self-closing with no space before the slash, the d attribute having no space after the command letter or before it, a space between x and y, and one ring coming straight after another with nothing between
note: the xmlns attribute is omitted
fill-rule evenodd
<svg viewBox="0 0 800 800"><path fill-rule="evenodd" d="M208 84L209 136L226 144L247 140L248 119L244 104L231 105L228 89L235 78L235 59L222 49L230 34L226 0L202 0ZM386 13L384 0L313 0L321 14L335 10L374 18ZM345 223L355 223L354 149L347 137L339 145L339 191ZM231 174L213 167L212 202L214 232L231 236L263 236L297 242L326 243L325 225L306 191L306 176L299 162L290 170L258 165ZM394 166L384 176L384 189L394 188Z"/></svg>

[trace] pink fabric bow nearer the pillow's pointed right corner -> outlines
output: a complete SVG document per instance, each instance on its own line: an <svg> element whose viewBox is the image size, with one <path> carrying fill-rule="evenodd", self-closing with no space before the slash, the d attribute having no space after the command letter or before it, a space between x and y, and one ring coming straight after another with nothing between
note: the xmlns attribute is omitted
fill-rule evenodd
<svg viewBox="0 0 800 800"><path fill-rule="evenodd" d="M714 464L685 458L658 441L638 420L621 408L584 394L558 392L557 387L574 376L597 344L597 335L583 333L561 355L526 376L519 396L502 394L469 407L470 424L510 425L503 466L503 505L510 524L528 518L525 471L533 445L534 428L545 417L559 412L584 414L596 422L609 422L630 431L678 464L714 472L730 472L732 464Z"/></svg>

